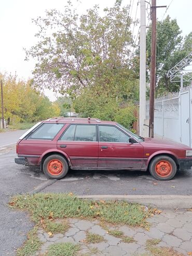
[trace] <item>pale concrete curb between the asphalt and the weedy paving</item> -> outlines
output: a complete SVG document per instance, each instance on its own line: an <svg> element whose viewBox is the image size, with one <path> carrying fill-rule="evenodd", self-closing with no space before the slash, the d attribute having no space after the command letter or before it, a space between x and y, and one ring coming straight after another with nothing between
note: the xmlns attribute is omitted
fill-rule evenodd
<svg viewBox="0 0 192 256"><path fill-rule="evenodd" d="M192 196L180 195L111 195L94 194L90 196L77 196L93 200L126 200L128 202L152 205L162 209L188 209L192 208Z"/></svg>

